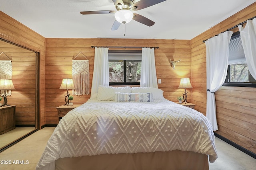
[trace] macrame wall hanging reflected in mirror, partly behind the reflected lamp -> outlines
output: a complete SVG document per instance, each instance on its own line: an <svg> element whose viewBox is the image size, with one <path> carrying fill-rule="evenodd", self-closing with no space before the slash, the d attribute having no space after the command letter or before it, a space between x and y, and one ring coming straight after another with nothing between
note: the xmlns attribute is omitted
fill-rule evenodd
<svg viewBox="0 0 256 170"><path fill-rule="evenodd" d="M12 57L8 57L4 52L0 53L0 79L12 79ZM4 95L4 90L1 90ZM12 90L6 90L8 96L12 95Z"/></svg>

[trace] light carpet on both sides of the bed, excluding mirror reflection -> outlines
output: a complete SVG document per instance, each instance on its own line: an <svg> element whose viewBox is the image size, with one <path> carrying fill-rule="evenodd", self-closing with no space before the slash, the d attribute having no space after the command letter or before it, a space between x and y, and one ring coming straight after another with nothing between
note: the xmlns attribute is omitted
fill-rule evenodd
<svg viewBox="0 0 256 170"><path fill-rule="evenodd" d="M34 170L48 139L55 127L45 127L0 153L0 160L11 160L12 164L0 164L0 170ZM256 159L215 138L218 159L209 163L210 170L255 170ZM24 164L13 164L13 161ZM28 164L26 164L28 161ZM1 163L1 162L0 162Z"/></svg>

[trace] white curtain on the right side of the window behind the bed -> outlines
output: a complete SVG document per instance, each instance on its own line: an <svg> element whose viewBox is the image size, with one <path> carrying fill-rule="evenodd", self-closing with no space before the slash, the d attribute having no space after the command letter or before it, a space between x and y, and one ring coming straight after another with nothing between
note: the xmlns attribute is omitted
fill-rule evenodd
<svg viewBox="0 0 256 170"><path fill-rule="evenodd" d="M158 88L154 48L142 48L140 86Z"/></svg>

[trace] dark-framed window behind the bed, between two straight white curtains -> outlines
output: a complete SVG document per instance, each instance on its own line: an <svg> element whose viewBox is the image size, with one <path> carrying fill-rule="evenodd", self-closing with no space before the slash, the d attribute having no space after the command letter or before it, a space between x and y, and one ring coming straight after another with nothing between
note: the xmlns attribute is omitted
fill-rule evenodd
<svg viewBox="0 0 256 170"><path fill-rule="evenodd" d="M109 51L109 84L140 84L141 51Z"/></svg>

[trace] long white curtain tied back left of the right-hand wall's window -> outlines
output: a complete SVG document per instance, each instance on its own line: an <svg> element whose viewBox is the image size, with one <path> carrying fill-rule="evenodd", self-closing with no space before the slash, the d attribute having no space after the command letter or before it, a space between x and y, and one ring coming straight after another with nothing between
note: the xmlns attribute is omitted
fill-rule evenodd
<svg viewBox="0 0 256 170"><path fill-rule="evenodd" d="M232 31L226 31L205 41L206 86L210 90L207 91L206 117L212 123L213 131L218 130L214 92L222 86L226 79L229 43L232 33Z"/></svg>

